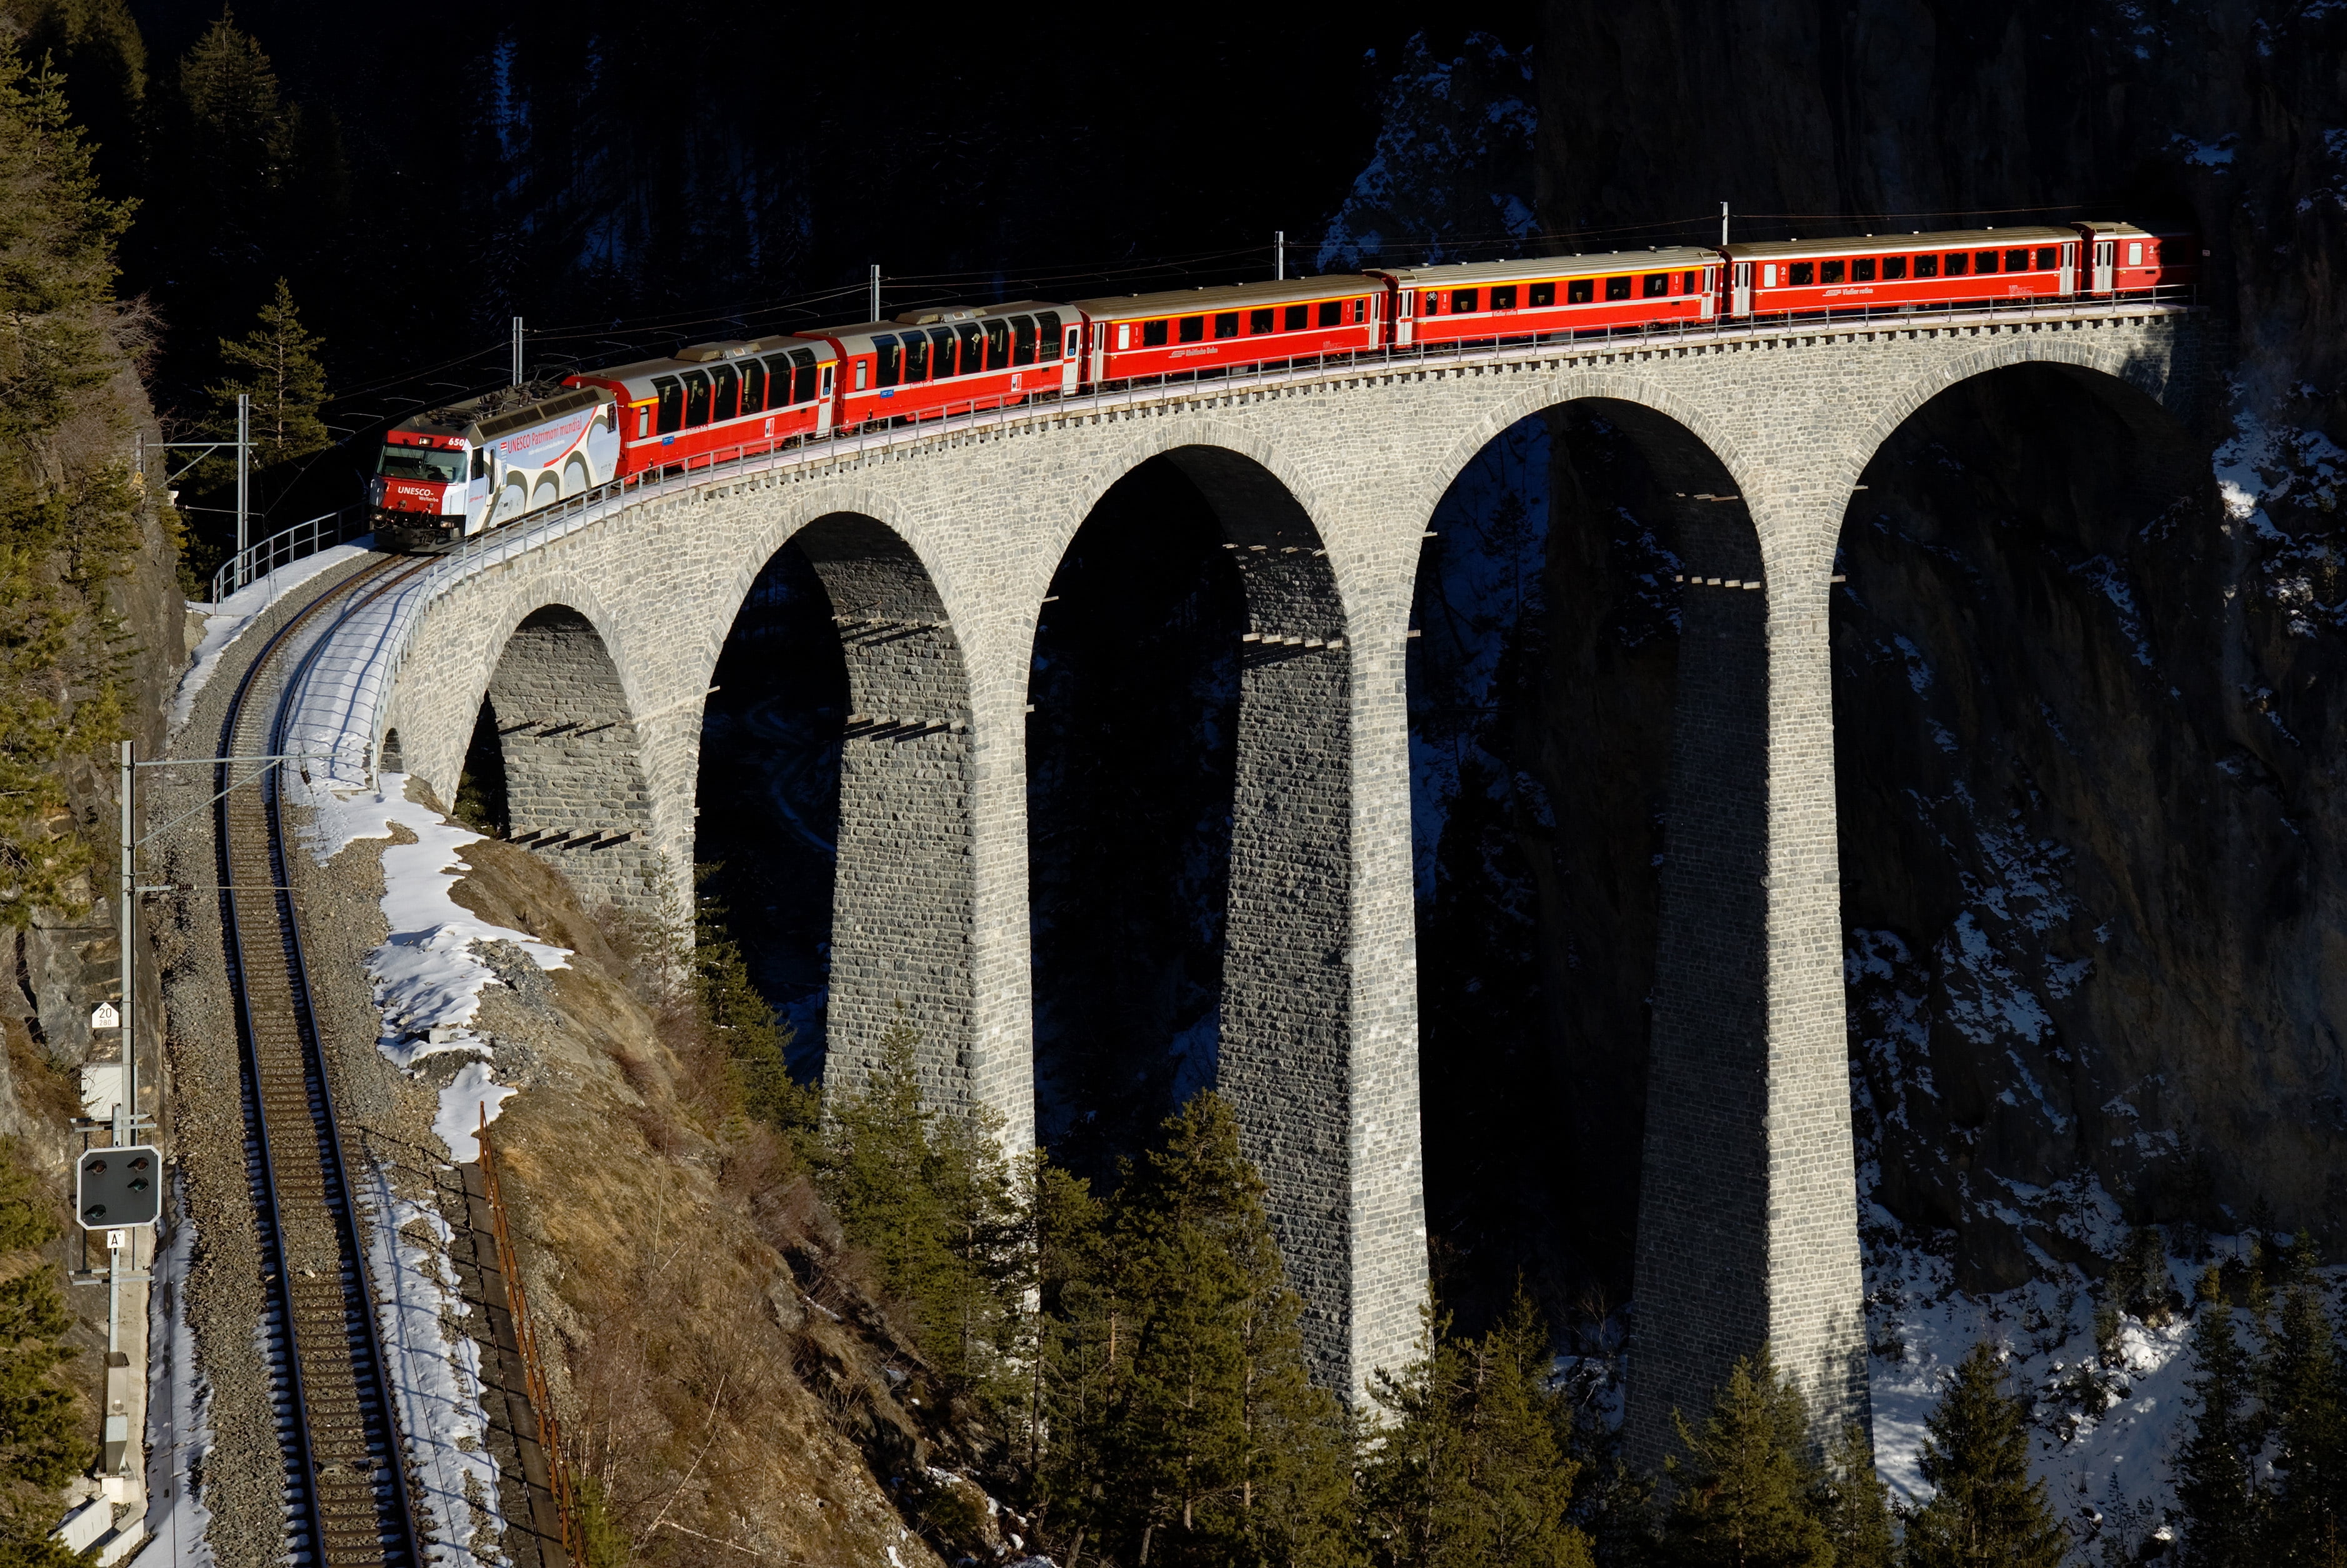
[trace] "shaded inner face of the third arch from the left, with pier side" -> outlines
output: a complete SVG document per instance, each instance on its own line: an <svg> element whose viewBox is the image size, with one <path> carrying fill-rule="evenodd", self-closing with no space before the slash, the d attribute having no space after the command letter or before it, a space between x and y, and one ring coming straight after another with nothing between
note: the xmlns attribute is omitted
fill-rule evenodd
<svg viewBox="0 0 2347 1568"><path fill-rule="evenodd" d="M1305 1338L1333 1387L1354 1366L1359 1153L1354 657L1319 526L1284 462L1185 423L1117 453L1117 479L1162 462L1213 514L1244 622L1235 627L1232 800L1213 1087L1270 1183ZM1115 481L1087 486L1077 523ZM1077 528L1058 547L1066 559ZM1422 1242L1411 1246L1422 1253ZM1422 1258L1418 1261L1422 1279Z"/></svg>

